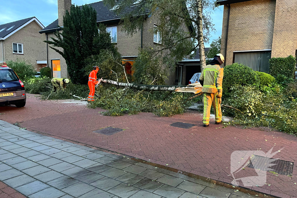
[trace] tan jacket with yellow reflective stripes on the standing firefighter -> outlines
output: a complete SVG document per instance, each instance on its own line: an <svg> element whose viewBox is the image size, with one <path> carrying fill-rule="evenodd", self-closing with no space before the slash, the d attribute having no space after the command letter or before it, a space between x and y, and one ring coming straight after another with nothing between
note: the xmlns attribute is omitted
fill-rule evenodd
<svg viewBox="0 0 297 198"><path fill-rule="evenodd" d="M217 93L222 92L222 82L224 77L224 68L219 65L206 65L200 80L203 80L202 92Z"/></svg>

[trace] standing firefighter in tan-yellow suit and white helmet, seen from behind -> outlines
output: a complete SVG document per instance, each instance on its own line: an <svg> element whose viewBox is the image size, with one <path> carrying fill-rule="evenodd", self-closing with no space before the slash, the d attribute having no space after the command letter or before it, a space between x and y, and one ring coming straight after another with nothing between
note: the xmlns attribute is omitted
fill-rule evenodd
<svg viewBox="0 0 297 198"><path fill-rule="evenodd" d="M224 77L224 68L220 65L224 63L224 56L217 54L210 64L207 65L200 75L199 82L203 86L203 126L208 127L210 108L214 107L216 124L222 122L222 82Z"/></svg>

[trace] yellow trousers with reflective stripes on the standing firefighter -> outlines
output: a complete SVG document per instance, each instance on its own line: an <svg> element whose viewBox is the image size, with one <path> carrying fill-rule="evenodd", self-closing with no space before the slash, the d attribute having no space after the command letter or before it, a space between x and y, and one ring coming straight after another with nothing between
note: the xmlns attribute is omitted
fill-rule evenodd
<svg viewBox="0 0 297 198"><path fill-rule="evenodd" d="M222 121L221 98L217 98L217 93L203 94L203 124L209 124L211 104L214 107L214 115L216 122Z"/></svg>

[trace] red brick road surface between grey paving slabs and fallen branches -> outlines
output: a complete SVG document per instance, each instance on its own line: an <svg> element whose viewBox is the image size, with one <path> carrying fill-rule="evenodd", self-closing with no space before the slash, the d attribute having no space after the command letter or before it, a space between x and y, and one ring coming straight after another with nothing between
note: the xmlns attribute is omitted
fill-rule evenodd
<svg viewBox="0 0 297 198"><path fill-rule="evenodd" d="M297 138L269 129L241 129L228 126L203 128L201 114L188 112L173 117L158 117L151 113L103 116L101 109L88 109L81 104L63 101L42 101L32 94L24 108L0 107L0 119L10 123L22 122L21 127L42 132L60 139L123 153L156 164L191 172L211 179L231 183L230 155L237 150L260 150L265 153L284 148L274 158L294 162L297 159ZM174 122L193 123L190 129L171 127ZM126 129L106 136L92 131L112 126ZM217 127L217 129L216 129ZM267 141L266 141L267 140ZM275 143L275 144L274 144ZM293 177L267 173L267 185L253 190L284 198L297 198L297 168ZM236 176L247 175L249 168ZM250 175L249 175L250 176ZM271 186L268 186L270 184Z"/></svg>

